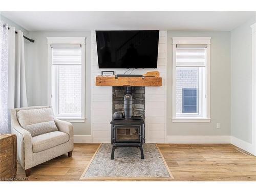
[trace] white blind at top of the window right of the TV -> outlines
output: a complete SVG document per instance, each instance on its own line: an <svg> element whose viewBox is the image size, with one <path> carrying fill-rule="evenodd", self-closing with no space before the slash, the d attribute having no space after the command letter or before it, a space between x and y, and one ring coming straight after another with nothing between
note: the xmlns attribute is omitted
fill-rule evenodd
<svg viewBox="0 0 256 192"><path fill-rule="evenodd" d="M177 67L205 67L207 45L177 45Z"/></svg>

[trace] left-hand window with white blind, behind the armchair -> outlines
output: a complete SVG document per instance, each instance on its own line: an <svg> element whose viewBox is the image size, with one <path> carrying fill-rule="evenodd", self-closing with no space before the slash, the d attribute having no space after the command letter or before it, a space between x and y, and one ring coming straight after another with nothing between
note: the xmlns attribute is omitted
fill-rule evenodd
<svg viewBox="0 0 256 192"><path fill-rule="evenodd" d="M82 118L82 49L79 44L51 44L51 104L55 116Z"/></svg>

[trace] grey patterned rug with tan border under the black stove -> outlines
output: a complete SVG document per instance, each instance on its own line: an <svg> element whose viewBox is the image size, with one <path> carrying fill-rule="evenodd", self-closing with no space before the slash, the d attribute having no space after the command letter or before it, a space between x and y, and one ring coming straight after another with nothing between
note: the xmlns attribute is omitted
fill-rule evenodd
<svg viewBox="0 0 256 192"><path fill-rule="evenodd" d="M80 180L171 180L174 179L156 144L143 145L144 157L139 148L117 147L111 160L112 145L102 143L84 170Z"/></svg>

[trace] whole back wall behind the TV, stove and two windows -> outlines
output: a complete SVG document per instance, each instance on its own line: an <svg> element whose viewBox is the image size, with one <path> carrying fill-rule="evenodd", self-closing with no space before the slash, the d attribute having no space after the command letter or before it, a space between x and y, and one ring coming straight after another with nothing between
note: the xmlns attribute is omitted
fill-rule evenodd
<svg viewBox="0 0 256 192"><path fill-rule="evenodd" d="M163 34L163 33L161 33ZM159 58L158 70L163 77L163 85L167 80L167 104L165 90L162 88L146 89L146 129L148 142L164 142L165 126L167 122L168 136L226 136L230 135L230 33L229 32L182 32L168 31L166 36L160 37L161 44L165 39L166 45L161 45L159 56L167 56L167 76L165 75L165 59ZM91 135L93 130L94 142L110 142L110 120L112 119L112 88L96 87L95 77L100 74L97 65L96 41L93 39L91 48L91 32L47 32L30 31L29 35L35 43L29 46L28 56L28 100L29 105L47 104L47 36L86 36L86 123L74 123L75 135ZM172 123L172 37L173 36L211 36L211 123ZM91 49L94 51L91 52ZM162 56L161 56L162 55ZM91 63L91 56L93 62ZM91 69L92 68L92 69ZM152 69L154 70L154 69ZM142 74L147 70L134 70L134 74ZM123 73L124 70L115 70ZM92 74L92 75L91 75ZM167 78L166 78L167 77ZM92 91L93 90L93 91ZM92 91L92 93L91 93ZM155 93L158 95L154 95ZM91 100L92 98L92 100ZM93 109L91 110L91 101ZM108 101L108 102L105 102ZM167 118L161 116L162 110L167 108ZM108 114L108 113L109 114ZM161 112L161 113L159 113ZM97 114L97 115L96 115ZM160 116L155 116L160 114ZM164 114L164 113L163 113ZM91 122L92 119L92 122ZM166 119L166 120L165 120ZM104 122L103 122L104 121ZM221 123L221 129L216 129L216 122Z"/></svg>

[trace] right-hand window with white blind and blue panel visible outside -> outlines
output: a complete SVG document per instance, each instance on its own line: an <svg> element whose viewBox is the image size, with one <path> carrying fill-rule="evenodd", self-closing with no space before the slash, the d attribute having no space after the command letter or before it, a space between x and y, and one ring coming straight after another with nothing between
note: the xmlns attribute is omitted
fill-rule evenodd
<svg viewBox="0 0 256 192"><path fill-rule="evenodd" d="M209 53L208 44L173 45L173 122L209 119Z"/></svg>

